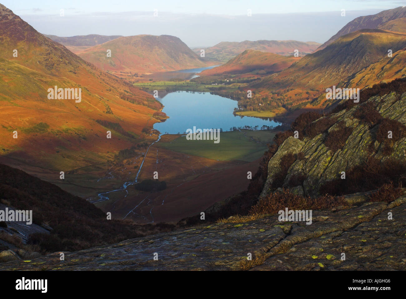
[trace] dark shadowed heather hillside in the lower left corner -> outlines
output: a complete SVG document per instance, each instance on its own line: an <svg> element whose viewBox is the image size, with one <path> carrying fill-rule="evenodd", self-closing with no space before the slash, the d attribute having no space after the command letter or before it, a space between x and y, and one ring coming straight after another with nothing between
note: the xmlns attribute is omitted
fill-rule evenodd
<svg viewBox="0 0 406 299"><path fill-rule="evenodd" d="M0 225L0 251L73 251L174 227L136 225L114 218L107 220L106 214L92 203L3 164L0 164L0 198L0 210L5 207L32 210L31 225L24 227L19 223L14 227L12 221L0 223L3 224ZM3 262L1 254L0 262Z"/></svg>

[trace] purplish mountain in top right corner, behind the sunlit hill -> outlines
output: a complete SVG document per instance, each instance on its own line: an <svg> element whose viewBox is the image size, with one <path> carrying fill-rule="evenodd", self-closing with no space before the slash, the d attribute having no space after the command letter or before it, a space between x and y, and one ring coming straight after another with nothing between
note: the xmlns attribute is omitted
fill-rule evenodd
<svg viewBox="0 0 406 299"><path fill-rule="evenodd" d="M339 37L346 35L348 33L352 33L354 31L358 31L361 29L378 29L384 23L387 23L391 20L400 19L402 17L406 17L406 7L397 7L395 9L388 9L386 11L381 11L375 15L366 15L362 17L357 17L351 22L349 22L346 26L341 28L335 35L330 37L328 41L322 44L317 50L322 50L326 48L329 44L333 41L338 39ZM389 28L381 28L387 29Z"/></svg>

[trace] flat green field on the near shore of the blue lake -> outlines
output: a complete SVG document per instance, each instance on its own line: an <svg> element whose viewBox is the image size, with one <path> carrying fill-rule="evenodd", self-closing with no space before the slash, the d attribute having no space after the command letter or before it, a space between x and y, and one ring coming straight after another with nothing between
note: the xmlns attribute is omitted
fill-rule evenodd
<svg viewBox="0 0 406 299"><path fill-rule="evenodd" d="M251 134L255 139L252 140L250 134L246 133L247 131L250 130L221 132L220 142L217 144L214 143L214 140L186 140L186 136L181 136L172 142L158 142L156 145L171 151L208 159L251 162L262 157L268 149L266 143L258 143L255 140L270 141L274 133L265 130L255 131Z"/></svg>

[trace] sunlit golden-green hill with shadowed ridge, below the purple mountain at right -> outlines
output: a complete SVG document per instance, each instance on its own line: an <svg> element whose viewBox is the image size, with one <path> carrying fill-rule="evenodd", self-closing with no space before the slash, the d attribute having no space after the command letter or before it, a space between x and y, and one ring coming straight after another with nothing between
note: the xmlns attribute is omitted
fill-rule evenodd
<svg viewBox="0 0 406 299"><path fill-rule="evenodd" d="M389 62L388 49L396 52L405 47L406 34L362 29L339 37L326 48L302 57L279 74L263 79L260 85L322 89L338 84L380 59Z"/></svg>

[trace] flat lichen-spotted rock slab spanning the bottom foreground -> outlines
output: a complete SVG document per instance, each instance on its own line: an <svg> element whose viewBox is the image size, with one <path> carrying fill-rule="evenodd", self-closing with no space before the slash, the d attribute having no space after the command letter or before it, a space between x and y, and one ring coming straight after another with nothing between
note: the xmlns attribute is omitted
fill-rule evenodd
<svg viewBox="0 0 406 299"><path fill-rule="evenodd" d="M313 211L311 225L268 215L66 252L63 261L59 252L10 261L0 270L406 270L406 196L366 201L365 193L346 196L348 208Z"/></svg>

